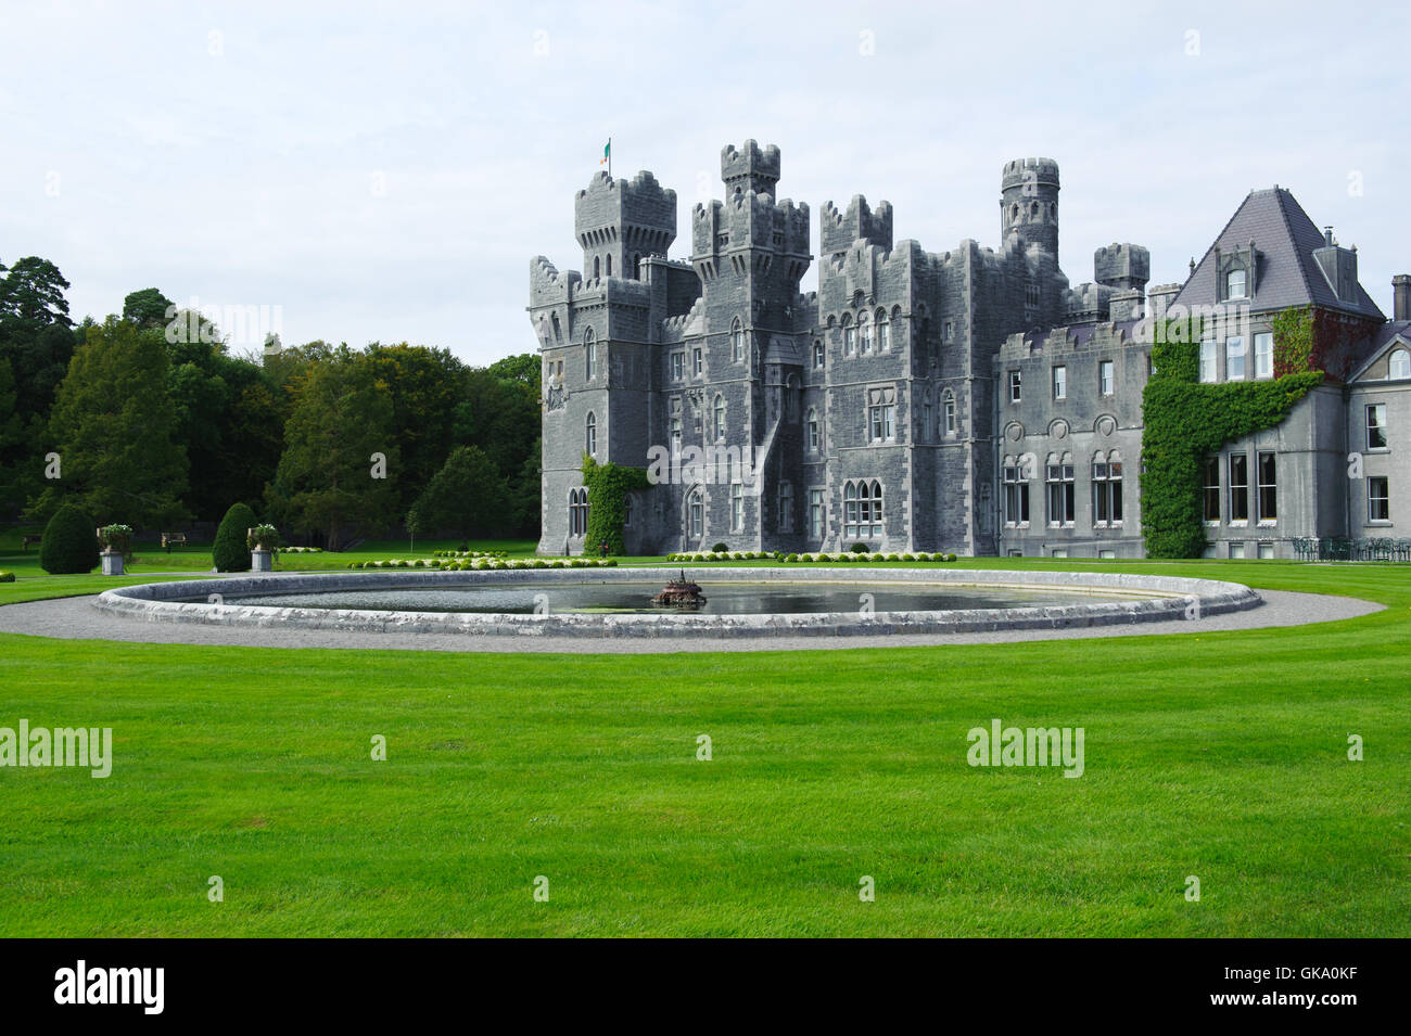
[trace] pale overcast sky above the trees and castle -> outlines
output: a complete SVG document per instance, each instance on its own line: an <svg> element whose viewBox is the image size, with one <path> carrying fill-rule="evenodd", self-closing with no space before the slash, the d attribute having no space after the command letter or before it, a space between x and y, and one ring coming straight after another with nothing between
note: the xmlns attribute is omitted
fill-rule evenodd
<svg viewBox="0 0 1411 1036"><path fill-rule="evenodd" d="M1401 7L1401 11L1393 10ZM897 240L998 245L1006 159L1062 171L1061 262L1112 241L1182 280L1252 187L1411 272L1404 4L0 3L0 262L75 319L155 286L281 307L286 344L529 351L529 261L577 269L573 193L612 138L690 207L720 149L779 193L896 207ZM817 286L817 268L804 289ZM272 310L271 310L272 313ZM237 348L243 344L237 344Z"/></svg>

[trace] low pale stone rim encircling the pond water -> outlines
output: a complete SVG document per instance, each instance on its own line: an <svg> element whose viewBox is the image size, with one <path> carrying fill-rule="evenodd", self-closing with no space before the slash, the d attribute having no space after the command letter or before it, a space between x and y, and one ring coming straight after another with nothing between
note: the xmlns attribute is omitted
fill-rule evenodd
<svg viewBox="0 0 1411 1036"><path fill-rule="evenodd" d="M999 569L835 569L835 568L707 568L694 578L721 582L842 584L888 582L937 586L1064 589L1102 593L1140 593L1139 600L1094 600L1082 605L1041 605L940 612L816 612L800 615L509 615L470 612L378 612L363 609L270 608L238 603L190 603L181 598L246 593L306 593L316 591L409 589L442 585L536 586L639 582L660 578L659 568L511 571L353 571L288 574L157 582L104 591L93 605L110 615L140 622L196 623L234 627L340 630L360 633L446 633L521 637L797 637L879 636L892 633L978 633L1023 629L1079 629L1189 619L1259 608L1263 599L1249 586L1212 579L1187 579L1127 572L1023 572Z"/></svg>

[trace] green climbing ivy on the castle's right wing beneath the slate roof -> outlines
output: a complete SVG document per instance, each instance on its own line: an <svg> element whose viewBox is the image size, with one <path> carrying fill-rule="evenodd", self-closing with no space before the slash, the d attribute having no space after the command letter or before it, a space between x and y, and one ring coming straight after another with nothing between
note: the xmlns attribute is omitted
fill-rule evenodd
<svg viewBox="0 0 1411 1036"><path fill-rule="evenodd" d="M1199 320L1170 321L1165 340L1151 347L1156 372L1141 396L1141 533L1151 558L1202 555L1204 458L1274 427L1324 379L1321 371L1304 369L1267 382L1205 385L1199 331ZM1277 341L1276 330L1276 350ZM1292 344L1290 351L1297 350Z"/></svg>

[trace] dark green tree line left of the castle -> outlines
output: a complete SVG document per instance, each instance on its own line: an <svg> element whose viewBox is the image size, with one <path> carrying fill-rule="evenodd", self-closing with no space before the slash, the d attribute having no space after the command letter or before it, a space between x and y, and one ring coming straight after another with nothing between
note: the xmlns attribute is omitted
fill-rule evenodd
<svg viewBox="0 0 1411 1036"><path fill-rule="evenodd" d="M61 506L174 529L251 506L337 550L401 527L539 534L539 361L312 341L236 355L158 289L73 323L69 282L0 264L0 519Z"/></svg>

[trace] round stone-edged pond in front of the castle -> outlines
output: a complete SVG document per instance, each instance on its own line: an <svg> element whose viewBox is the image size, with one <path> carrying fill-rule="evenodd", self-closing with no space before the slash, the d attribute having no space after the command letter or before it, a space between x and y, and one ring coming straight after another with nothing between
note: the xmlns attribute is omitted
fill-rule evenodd
<svg viewBox="0 0 1411 1036"><path fill-rule="evenodd" d="M332 572L148 584L97 606L148 622L579 637L876 636L1198 619L1247 586L1115 572L700 568L707 600L659 608L674 568Z"/></svg>

